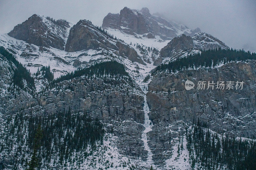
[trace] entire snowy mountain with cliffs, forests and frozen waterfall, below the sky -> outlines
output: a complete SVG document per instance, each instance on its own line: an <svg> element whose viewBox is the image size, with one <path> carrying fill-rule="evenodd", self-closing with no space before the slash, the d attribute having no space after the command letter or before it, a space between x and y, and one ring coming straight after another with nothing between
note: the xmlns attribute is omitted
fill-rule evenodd
<svg viewBox="0 0 256 170"><path fill-rule="evenodd" d="M109 13L102 27L34 14L0 35L0 46L0 169L28 168L33 156L41 169L232 169L221 154L226 146L254 146L246 142L256 135L255 54L232 51L245 57L206 69L166 69L191 53L229 50L199 28L148 8ZM156 67L162 68L152 72ZM245 83L237 91L186 91L185 80L196 78ZM210 145L200 143L199 152L199 141ZM250 157L253 147L243 148L237 160Z"/></svg>

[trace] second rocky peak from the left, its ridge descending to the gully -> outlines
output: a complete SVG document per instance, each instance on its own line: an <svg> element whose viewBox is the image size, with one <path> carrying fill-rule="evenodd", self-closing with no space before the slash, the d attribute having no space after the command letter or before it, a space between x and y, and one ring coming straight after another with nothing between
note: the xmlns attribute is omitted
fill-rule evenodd
<svg viewBox="0 0 256 170"><path fill-rule="evenodd" d="M127 57L132 62L146 65L134 48L124 42L111 39L89 21L80 20L70 29L65 51L76 52L97 48L117 50L118 53L115 52L115 54Z"/></svg>

